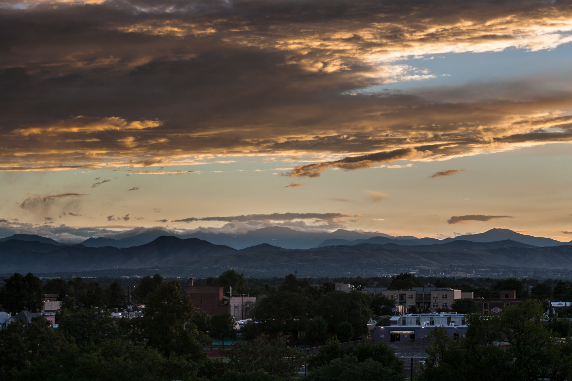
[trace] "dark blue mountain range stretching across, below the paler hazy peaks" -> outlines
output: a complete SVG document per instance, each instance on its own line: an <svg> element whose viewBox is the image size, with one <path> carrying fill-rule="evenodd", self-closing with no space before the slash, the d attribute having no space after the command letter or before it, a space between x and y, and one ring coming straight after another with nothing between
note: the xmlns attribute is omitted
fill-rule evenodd
<svg viewBox="0 0 572 381"><path fill-rule="evenodd" d="M491 236L502 235L505 229L493 229ZM259 243L241 248L215 244L198 238L158 236L149 243L132 247L89 247L85 244L65 245L39 236L7 237L0 239L0 263L3 272L72 272L113 268L193 267L221 268L250 267L265 271L283 271L296 266L311 266L330 273L345 271L355 266L382 268L389 264L408 266L519 266L543 268L572 267L572 245L535 246L522 240L531 237L510 231L515 239L475 242L466 239L437 240L394 239L378 236L366 242L348 240L349 244L292 249ZM488 232L487 232L488 233ZM513 234L514 233L514 234ZM486 234L485 234L486 235ZM39 237L39 239L38 239ZM43 239L42 239L43 238ZM475 239L483 239L476 235ZM376 243L375 240L391 242ZM543 238L541 242L546 242ZM445 242L446 241L446 242ZM92 241L93 242L93 241ZM101 242L101 241L97 241ZM430 244L422 244L428 242ZM417 244L411 244L417 243ZM552 243L552 242L549 242Z"/></svg>

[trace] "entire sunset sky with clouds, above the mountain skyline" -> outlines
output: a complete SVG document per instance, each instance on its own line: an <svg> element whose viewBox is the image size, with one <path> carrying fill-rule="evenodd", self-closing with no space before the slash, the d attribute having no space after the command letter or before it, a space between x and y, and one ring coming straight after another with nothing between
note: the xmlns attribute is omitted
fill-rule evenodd
<svg viewBox="0 0 572 381"><path fill-rule="evenodd" d="M0 236L567 242L571 58L565 1L0 0Z"/></svg>

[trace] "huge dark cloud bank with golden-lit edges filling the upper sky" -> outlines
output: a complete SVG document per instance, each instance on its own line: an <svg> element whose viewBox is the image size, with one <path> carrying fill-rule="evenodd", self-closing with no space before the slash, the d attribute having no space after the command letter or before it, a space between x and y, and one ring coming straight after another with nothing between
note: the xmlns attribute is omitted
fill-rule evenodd
<svg viewBox="0 0 572 381"><path fill-rule="evenodd" d="M312 153L291 175L318 177L572 141L570 115L538 116L570 104L566 86L358 91L447 74L406 57L569 42L567 2L7 3L25 7L0 7L0 170Z"/></svg>

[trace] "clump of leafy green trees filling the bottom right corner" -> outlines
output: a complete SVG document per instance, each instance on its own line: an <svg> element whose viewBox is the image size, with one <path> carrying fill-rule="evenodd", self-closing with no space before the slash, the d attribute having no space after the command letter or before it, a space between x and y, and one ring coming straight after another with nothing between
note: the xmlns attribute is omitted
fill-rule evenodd
<svg viewBox="0 0 572 381"><path fill-rule="evenodd" d="M501 315L467 317L466 337L455 340L434 328L427 348L424 381L570 380L572 323L545 324L537 300L507 306Z"/></svg>

